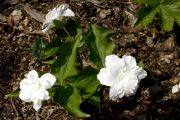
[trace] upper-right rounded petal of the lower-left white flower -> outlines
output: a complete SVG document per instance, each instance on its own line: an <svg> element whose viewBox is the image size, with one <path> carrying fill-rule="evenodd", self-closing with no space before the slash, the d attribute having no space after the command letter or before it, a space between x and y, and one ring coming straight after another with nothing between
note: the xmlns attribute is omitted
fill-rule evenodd
<svg viewBox="0 0 180 120"><path fill-rule="evenodd" d="M51 73L46 73L40 77L39 81L43 88L49 89L56 82L56 77Z"/></svg>

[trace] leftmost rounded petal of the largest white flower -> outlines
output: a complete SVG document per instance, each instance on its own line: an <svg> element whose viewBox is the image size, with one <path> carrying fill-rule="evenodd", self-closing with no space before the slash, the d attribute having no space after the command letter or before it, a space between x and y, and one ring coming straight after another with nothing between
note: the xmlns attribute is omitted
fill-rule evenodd
<svg viewBox="0 0 180 120"><path fill-rule="evenodd" d="M106 86L112 86L113 85L113 80L115 79L110 71L106 68L102 68L97 75L97 79L100 81L102 85Z"/></svg>

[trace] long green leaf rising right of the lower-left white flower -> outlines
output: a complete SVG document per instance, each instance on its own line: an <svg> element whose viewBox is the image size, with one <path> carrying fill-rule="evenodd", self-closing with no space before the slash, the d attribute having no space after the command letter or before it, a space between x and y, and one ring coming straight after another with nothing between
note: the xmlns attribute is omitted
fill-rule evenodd
<svg viewBox="0 0 180 120"><path fill-rule="evenodd" d="M61 46L59 57L52 64L52 72L57 77L57 85L62 85L65 78L76 73L77 47L75 43L66 43Z"/></svg>

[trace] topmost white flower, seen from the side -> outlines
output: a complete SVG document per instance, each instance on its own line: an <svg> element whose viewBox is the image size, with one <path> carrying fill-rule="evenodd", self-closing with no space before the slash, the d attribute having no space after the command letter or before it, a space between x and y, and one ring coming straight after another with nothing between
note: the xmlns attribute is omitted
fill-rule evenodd
<svg viewBox="0 0 180 120"><path fill-rule="evenodd" d="M74 12L71 9L69 9L69 5L67 4L62 4L59 7L49 11L45 16L45 21L43 22L42 31L48 32L51 28L54 27L53 20L62 21L64 16L67 17L74 16Z"/></svg>

